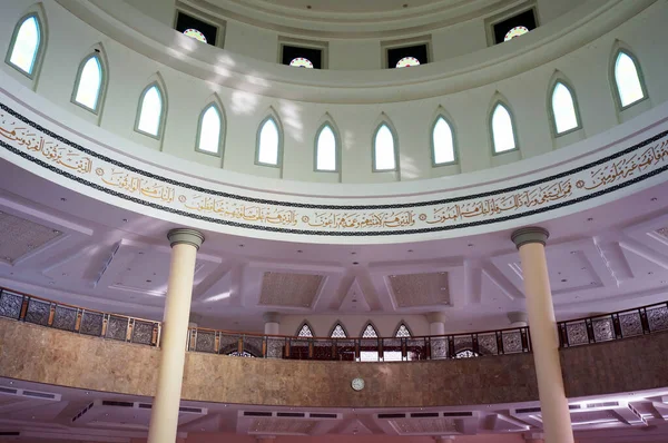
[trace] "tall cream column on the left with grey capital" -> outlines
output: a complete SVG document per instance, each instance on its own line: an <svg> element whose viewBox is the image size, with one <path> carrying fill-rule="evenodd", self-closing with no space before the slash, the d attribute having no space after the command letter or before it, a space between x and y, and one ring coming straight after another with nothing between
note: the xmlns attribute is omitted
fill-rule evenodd
<svg viewBox="0 0 668 443"><path fill-rule="evenodd" d="M197 249L204 242L204 235L194 229L171 229L167 238L171 245L171 264L160 344L158 386L150 411L148 443L176 441L195 259Z"/></svg>

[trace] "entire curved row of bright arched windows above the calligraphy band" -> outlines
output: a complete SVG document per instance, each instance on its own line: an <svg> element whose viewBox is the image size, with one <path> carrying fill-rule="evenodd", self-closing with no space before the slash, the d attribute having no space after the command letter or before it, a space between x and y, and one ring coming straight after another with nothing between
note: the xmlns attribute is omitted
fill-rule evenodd
<svg viewBox="0 0 668 443"><path fill-rule="evenodd" d="M6 61L33 78L40 57L43 56L45 38L39 13L23 17L17 24ZM617 50L612 66L613 95L620 109L626 109L647 98L647 89L638 60L626 49ZM107 68L97 48L81 61L72 102L98 114L102 106L108 81ZM549 114L554 136L582 127L574 89L558 78L553 81L549 96ZM139 97L135 130L144 135L161 138L167 114L164 86L159 80L147 86ZM383 115L384 116L384 115ZM497 99L490 111L489 127L494 154L519 149L517 125L508 104ZM202 152L222 155L225 138L225 119L222 105L208 104L198 120L195 148ZM372 138L374 171L396 170L399 165L397 136L385 117L376 127ZM458 161L454 127L445 112L439 112L431 127L431 152L433 166ZM274 112L266 117L257 130L255 161L263 166L279 167L283 156L283 129ZM315 136L315 170L338 171L341 138L327 119Z"/></svg>

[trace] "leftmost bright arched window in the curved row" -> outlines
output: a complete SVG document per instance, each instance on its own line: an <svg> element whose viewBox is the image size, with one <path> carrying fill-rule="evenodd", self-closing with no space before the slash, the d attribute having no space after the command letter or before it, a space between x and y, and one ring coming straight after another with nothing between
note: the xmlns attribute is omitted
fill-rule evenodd
<svg viewBox="0 0 668 443"><path fill-rule="evenodd" d="M14 28L7 62L28 77L35 75L42 49L42 30L37 13L24 17Z"/></svg>

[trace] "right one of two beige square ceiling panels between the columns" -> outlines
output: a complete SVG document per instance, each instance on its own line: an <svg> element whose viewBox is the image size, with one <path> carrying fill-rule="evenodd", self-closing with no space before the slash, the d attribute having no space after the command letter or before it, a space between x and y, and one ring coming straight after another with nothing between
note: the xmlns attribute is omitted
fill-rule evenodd
<svg viewBox="0 0 668 443"><path fill-rule="evenodd" d="M448 273L391 275L389 282L397 307L450 304Z"/></svg>

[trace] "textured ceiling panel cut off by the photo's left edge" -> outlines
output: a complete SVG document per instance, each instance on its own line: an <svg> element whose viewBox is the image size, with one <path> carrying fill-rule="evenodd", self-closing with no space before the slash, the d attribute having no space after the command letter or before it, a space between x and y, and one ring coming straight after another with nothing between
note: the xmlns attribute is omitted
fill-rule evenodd
<svg viewBox="0 0 668 443"><path fill-rule="evenodd" d="M58 229L4 213L0 213L0 258L10 264L62 235Z"/></svg>

